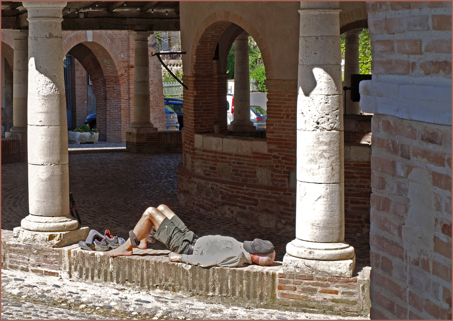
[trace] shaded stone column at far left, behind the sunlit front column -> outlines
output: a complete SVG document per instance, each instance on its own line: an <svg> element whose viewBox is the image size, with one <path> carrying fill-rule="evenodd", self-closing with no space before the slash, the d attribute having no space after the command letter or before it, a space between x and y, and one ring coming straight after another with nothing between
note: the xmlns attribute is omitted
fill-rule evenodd
<svg viewBox="0 0 453 321"><path fill-rule="evenodd" d="M10 30L14 36L13 127L6 138L20 140L26 152L28 95L28 30ZM21 148L22 149L22 148Z"/></svg>

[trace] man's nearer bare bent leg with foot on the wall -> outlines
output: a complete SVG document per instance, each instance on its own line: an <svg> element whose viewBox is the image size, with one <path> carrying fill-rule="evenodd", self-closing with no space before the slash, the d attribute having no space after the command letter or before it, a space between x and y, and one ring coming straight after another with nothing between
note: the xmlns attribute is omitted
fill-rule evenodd
<svg viewBox="0 0 453 321"><path fill-rule="evenodd" d="M149 232L151 232L151 229L154 227L154 230L157 230L159 228L160 223L162 223L165 217L166 216L162 212L160 212L158 209L154 207L148 207L145 210L139 222L137 223L137 225L135 225L134 228L134 234L135 236L137 236L137 240L140 240L139 245L140 247L143 246L142 245L143 240L145 240L146 242L146 237L149 235ZM133 254L132 253L133 248L134 246L132 246L132 243L130 243L130 239L127 239L127 241L123 245L117 247L116 249L112 249L107 253L110 256L119 255L130 256Z"/></svg>

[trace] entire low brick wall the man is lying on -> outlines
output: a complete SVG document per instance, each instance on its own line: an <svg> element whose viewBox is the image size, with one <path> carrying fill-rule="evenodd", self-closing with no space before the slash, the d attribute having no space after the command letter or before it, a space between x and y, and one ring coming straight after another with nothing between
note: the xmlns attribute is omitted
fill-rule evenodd
<svg viewBox="0 0 453 321"><path fill-rule="evenodd" d="M63 248L25 245L12 231L1 233L1 267L5 269L148 291L183 292L235 306L364 318L370 312L369 267L354 278L282 273L281 262L270 267L202 268L170 262L168 250L135 249L136 255L111 258L105 252L82 250L77 244Z"/></svg>

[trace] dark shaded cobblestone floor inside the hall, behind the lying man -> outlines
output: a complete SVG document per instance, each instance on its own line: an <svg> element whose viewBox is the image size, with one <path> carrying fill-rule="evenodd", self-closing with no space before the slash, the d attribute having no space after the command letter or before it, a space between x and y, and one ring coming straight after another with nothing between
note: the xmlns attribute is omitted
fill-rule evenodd
<svg viewBox="0 0 453 321"><path fill-rule="evenodd" d="M180 206L177 166L181 161L182 153L69 154L69 189L82 225L101 234L107 229L127 239L129 230L148 206L166 204L199 236L220 234L241 242L254 238L270 240L275 246L275 259L283 259L286 244L295 238L294 227L251 229L230 218L201 215ZM13 230L29 214L27 163L2 164L1 175L1 228ZM369 265L369 245L355 235L345 240L356 249L356 266ZM149 246L166 249L159 242Z"/></svg>

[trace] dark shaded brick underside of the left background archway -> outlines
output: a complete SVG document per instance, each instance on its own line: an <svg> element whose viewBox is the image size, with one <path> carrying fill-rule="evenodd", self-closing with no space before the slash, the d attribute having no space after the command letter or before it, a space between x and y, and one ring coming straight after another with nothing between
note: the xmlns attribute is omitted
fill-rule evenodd
<svg viewBox="0 0 453 321"><path fill-rule="evenodd" d="M96 97L96 126L99 129L99 140L106 141L107 89L106 79L102 72L101 64L97 60L96 55L83 43L75 45L68 53L76 58L88 75L90 75Z"/></svg>

